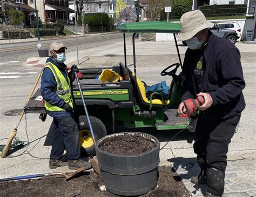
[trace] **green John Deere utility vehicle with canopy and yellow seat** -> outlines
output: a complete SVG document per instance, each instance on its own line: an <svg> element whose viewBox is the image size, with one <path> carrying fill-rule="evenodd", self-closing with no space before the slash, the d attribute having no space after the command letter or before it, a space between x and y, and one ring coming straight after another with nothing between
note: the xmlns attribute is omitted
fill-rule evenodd
<svg viewBox="0 0 256 197"><path fill-rule="evenodd" d="M122 24L118 26L117 31L124 34L124 63L112 67L79 69L79 72L83 74L83 77L80 78L80 85L96 140L114 132L115 128L120 126L127 128L156 127L157 130L173 130L182 129L188 125L187 117L176 116L182 94L181 80L176 75L178 67L181 66L182 68L176 40L176 34L179 30L180 25L178 23L154 21ZM173 33L179 63L166 67L160 73L161 76L169 75L173 79L170 84L169 99L164 99L163 95L157 92L146 96L146 83L140 80L136 74L135 36L137 32ZM133 71L129 69L126 61L126 33L132 33ZM112 73L116 73L119 80L96 79L99 75L100 77L104 76L102 73L105 70L109 71L110 74L114 71ZM88 155L94 155L95 147L76 81L72 84L72 92L75 101L75 114L77 121L79 121L80 145ZM40 91L38 90L25 107L25 112L40 113L39 118L44 120L46 112L42 101L36 100L39 95Z"/></svg>

